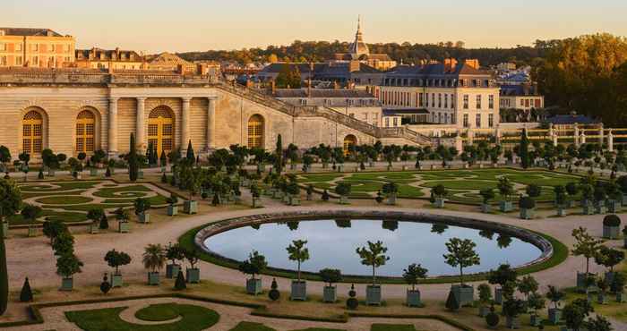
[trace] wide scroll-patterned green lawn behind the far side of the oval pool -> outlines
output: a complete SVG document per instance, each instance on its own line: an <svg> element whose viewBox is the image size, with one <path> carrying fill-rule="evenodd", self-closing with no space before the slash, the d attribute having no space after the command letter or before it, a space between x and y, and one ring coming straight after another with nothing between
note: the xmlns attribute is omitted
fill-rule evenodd
<svg viewBox="0 0 627 331"><path fill-rule="evenodd" d="M298 181L312 184L320 190L333 191L338 182L352 185L351 198L372 198L382 189L385 182L396 182L399 185L399 198L428 197L431 188L438 184L449 190L447 199L453 202L480 203L479 191L496 189L499 178L507 177L515 184L517 193L523 193L528 184L541 186L542 194L538 201L554 199L555 185L566 185L578 182L580 177L542 170L517 170L511 168L472 169L472 170L436 170L436 171L405 171L347 174L301 174ZM324 179L329 179L324 181ZM496 191L496 190L495 190ZM518 194L516 194L518 195ZM498 201L500 197L494 199Z"/></svg>

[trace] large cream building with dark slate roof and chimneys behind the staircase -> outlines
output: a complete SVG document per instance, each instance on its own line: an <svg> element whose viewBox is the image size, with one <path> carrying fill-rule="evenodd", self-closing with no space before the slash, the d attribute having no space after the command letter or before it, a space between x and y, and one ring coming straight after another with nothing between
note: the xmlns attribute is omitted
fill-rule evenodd
<svg viewBox="0 0 627 331"><path fill-rule="evenodd" d="M386 72L374 96L386 109L424 109L428 121L488 129L499 123L499 87L477 60L399 65Z"/></svg>

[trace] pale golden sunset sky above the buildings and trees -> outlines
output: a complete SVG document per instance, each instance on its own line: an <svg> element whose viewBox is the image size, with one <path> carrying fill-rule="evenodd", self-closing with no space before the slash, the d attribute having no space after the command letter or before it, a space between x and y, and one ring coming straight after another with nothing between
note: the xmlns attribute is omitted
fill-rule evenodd
<svg viewBox="0 0 627 331"><path fill-rule="evenodd" d="M77 47L157 53L349 41L515 47L596 32L627 36L625 0L2 0L0 26L49 28Z"/></svg>

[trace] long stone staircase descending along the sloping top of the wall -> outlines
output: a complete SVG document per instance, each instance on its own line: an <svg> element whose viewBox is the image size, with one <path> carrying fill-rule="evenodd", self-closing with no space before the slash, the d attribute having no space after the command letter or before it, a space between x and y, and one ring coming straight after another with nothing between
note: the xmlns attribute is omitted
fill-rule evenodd
<svg viewBox="0 0 627 331"><path fill-rule="evenodd" d="M341 114L325 106L293 106L261 92L243 86L229 84L224 81L214 82L215 87L238 97L271 107L281 113L295 117L324 117L332 122L340 123L358 132L364 132L376 139L403 139L417 145L431 145L433 140L425 135L409 130L406 127L381 128L370 123L359 121L348 115Z"/></svg>

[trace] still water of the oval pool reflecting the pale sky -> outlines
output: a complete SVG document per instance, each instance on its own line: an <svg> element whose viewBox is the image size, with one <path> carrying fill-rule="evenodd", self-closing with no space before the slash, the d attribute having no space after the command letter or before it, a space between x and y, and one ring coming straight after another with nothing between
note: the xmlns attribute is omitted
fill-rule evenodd
<svg viewBox="0 0 627 331"><path fill-rule="evenodd" d="M207 238L205 247L224 258L242 261L252 250L265 255L269 266L296 269L288 259L286 247L297 239L308 241L310 259L301 266L303 271L318 272L325 267L339 268L344 275L369 276L370 267L363 266L356 248L367 241L382 241L388 248L390 260L377 269L379 276L401 276L411 263L420 263L429 276L457 275L458 268L444 262L445 243L458 237L477 243L481 264L464 268L464 274L488 271L502 263L511 266L527 264L542 255L542 250L530 242L511 236L474 228L371 219L303 220L245 226L218 233Z"/></svg>

